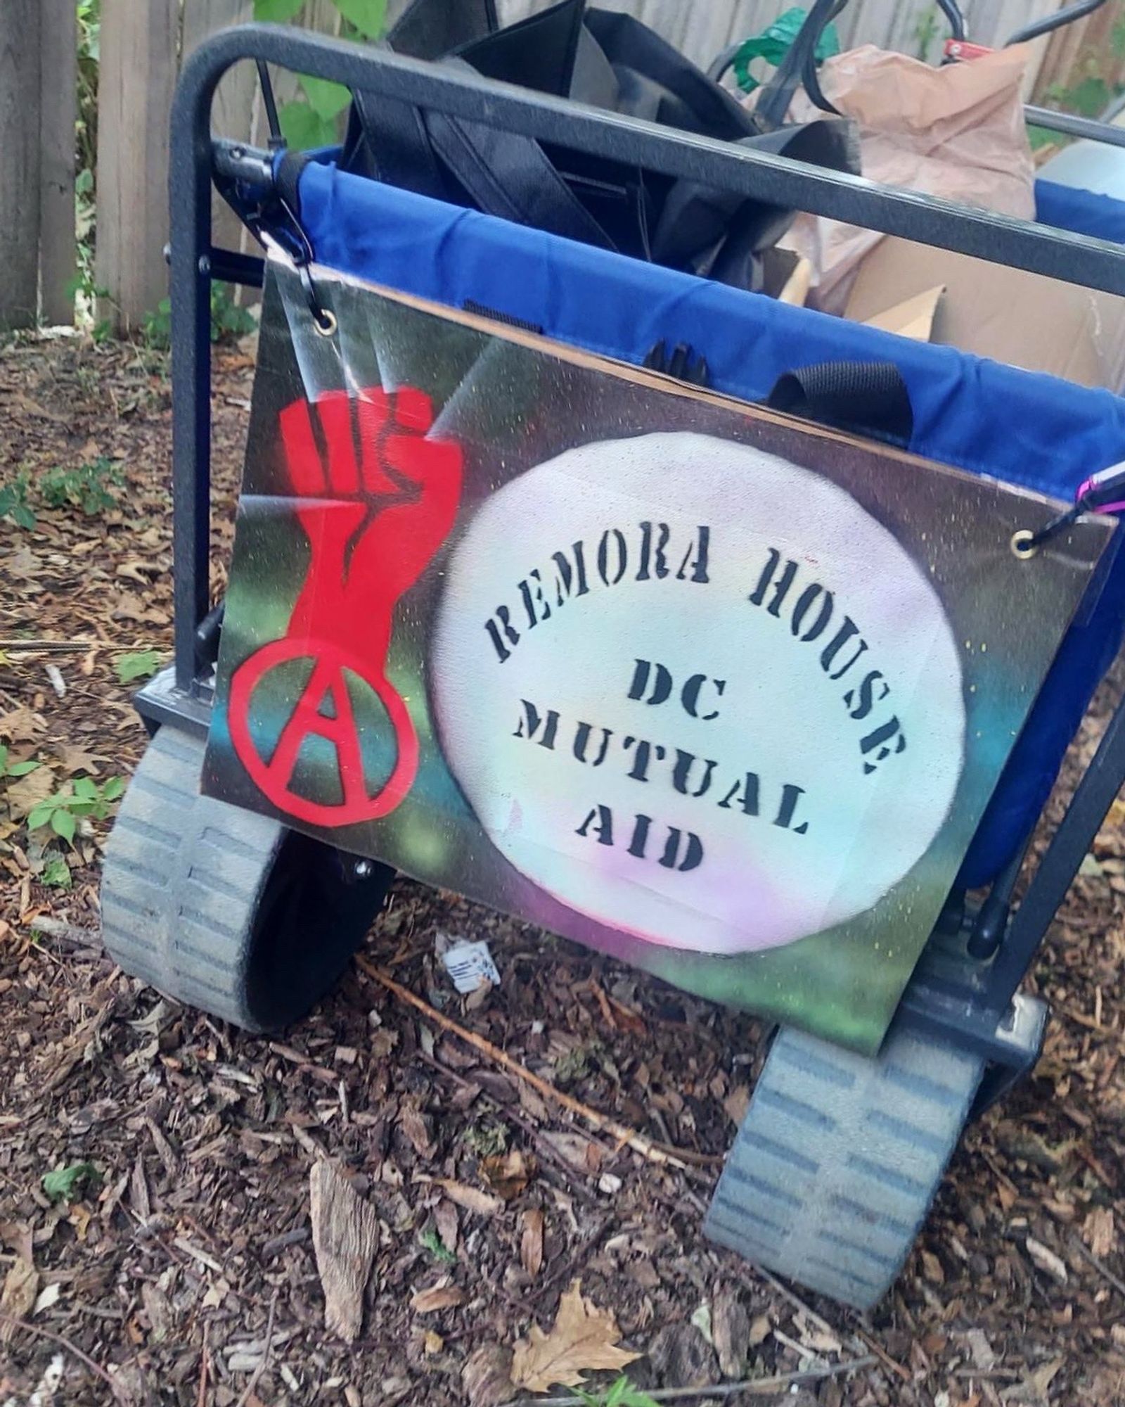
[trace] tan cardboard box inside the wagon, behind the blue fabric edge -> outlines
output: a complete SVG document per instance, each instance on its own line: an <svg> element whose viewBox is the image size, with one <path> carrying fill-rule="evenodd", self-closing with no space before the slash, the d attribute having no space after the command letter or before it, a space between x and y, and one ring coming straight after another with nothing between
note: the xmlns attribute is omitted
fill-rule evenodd
<svg viewBox="0 0 1125 1407"><path fill-rule="evenodd" d="M878 321L945 288L931 340L1111 391L1125 387L1125 298L886 238L863 260L845 317Z"/></svg>

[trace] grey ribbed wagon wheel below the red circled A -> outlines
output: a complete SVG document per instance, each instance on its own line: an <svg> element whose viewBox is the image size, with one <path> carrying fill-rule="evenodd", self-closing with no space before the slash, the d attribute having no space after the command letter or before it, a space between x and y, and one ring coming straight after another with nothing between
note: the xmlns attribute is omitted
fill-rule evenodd
<svg viewBox="0 0 1125 1407"><path fill-rule="evenodd" d="M277 1030L335 986L394 871L201 796L202 757L167 725L149 743L105 847L103 938L177 1002Z"/></svg>

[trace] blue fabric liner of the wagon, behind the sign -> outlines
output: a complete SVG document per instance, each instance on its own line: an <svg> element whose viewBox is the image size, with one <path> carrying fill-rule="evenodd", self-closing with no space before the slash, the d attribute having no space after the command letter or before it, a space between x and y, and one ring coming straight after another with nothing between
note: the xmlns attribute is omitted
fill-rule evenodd
<svg viewBox="0 0 1125 1407"><path fill-rule="evenodd" d="M1039 183L1049 222L1090 219L1076 210L1076 193L1063 198L1062 190ZM1125 401L1108 391L793 308L322 162L305 167L300 196L319 263L402 293L454 308L474 300L636 364L661 338L686 342L706 356L716 390L747 401L764 400L779 376L802 366L894 362L914 408L914 453L1067 501L1094 470L1125 459ZM1124 626L1125 553L1117 553L1015 743L962 884L989 882L1027 836Z"/></svg>

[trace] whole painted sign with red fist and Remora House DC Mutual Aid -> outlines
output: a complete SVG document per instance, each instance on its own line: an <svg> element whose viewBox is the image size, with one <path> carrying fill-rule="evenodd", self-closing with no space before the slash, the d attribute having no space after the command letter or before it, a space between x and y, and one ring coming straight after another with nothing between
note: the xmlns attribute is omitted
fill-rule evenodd
<svg viewBox="0 0 1125 1407"><path fill-rule="evenodd" d="M318 273L263 317L205 789L878 1045L1108 528Z"/></svg>

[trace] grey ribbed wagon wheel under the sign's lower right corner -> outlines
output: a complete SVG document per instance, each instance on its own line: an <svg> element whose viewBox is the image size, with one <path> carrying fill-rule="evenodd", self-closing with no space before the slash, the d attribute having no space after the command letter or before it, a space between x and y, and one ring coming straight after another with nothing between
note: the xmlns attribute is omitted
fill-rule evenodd
<svg viewBox="0 0 1125 1407"><path fill-rule="evenodd" d="M983 1062L892 1031L875 1058L782 1027L703 1234L868 1310L906 1261Z"/></svg>

